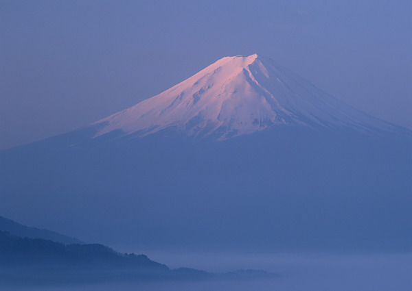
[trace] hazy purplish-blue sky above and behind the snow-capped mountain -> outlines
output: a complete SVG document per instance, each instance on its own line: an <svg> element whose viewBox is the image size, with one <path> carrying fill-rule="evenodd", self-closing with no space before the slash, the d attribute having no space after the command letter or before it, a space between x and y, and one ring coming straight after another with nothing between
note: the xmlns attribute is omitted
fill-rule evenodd
<svg viewBox="0 0 412 291"><path fill-rule="evenodd" d="M411 1L0 0L0 149L87 125L260 53L412 128Z"/></svg>

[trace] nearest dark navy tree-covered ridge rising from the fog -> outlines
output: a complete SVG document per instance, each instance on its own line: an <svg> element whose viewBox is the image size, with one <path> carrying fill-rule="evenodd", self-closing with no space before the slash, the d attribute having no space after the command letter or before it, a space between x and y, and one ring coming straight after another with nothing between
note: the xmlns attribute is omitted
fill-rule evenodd
<svg viewBox="0 0 412 291"><path fill-rule="evenodd" d="M0 231L0 286L36 286L102 281L205 280L216 275L118 253L102 244L62 244ZM244 277L242 274L238 277Z"/></svg>

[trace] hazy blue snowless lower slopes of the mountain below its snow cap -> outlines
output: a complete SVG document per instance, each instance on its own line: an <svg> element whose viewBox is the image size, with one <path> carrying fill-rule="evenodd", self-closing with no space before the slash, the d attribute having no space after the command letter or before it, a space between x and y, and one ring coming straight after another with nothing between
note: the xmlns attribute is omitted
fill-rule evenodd
<svg viewBox="0 0 412 291"><path fill-rule="evenodd" d="M3 205L110 245L408 251L411 144L286 125L222 142L167 129L3 152L1 190Z"/></svg>

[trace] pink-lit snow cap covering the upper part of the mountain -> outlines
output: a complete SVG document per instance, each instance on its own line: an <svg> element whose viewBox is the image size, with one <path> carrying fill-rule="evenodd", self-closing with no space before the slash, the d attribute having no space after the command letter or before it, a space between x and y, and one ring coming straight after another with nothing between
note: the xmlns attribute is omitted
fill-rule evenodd
<svg viewBox="0 0 412 291"><path fill-rule="evenodd" d="M396 127L330 97L256 54L226 57L196 75L93 125L146 136L173 127L225 140L276 125L395 131Z"/></svg>

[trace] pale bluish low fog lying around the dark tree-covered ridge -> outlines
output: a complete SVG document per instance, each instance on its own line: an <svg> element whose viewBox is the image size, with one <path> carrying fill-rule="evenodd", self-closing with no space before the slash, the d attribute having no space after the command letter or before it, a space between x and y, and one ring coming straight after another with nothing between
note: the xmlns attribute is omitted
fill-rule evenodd
<svg viewBox="0 0 412 291"><path fill-rule="evenodd" d="M211 279L162 283L93 283L71 286L28 286L10 290L171 290L171 291L410 291L412 253L407 254L243 254L161 253L146 251L170 268L187 266L213 273L260 269L276 273L270 279Z"/></svg>

